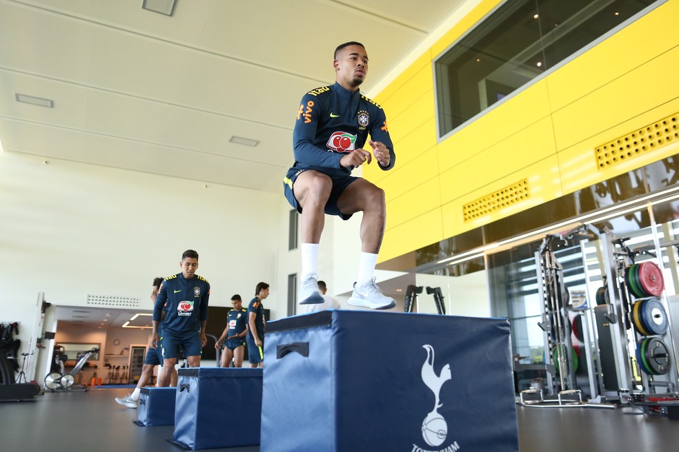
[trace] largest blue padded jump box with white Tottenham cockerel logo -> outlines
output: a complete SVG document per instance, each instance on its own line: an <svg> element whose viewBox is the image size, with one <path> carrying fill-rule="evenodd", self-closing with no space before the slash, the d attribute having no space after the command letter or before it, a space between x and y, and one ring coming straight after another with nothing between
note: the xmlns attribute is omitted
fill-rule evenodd
<svg viewBox="0 0 679 452"><path fill-rule="evenodd" d="M265 338L262 452L519 450L505 319L331 310Z"/></svg>

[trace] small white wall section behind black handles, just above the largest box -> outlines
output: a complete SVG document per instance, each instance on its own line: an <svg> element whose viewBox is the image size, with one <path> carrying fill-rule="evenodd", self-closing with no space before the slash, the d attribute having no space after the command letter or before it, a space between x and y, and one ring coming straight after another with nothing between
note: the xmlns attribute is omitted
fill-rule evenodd
<svg viewBox="0 0 679 452"><path fill-rule="evenodd" d="M486 283L486 271L475 271L464 276L435 276L417 274L418 286L424 287L418 296L420 312L437 314L434 296L426 287L441 287L446 314L451 316L489 317L491 315Z"/></svg>

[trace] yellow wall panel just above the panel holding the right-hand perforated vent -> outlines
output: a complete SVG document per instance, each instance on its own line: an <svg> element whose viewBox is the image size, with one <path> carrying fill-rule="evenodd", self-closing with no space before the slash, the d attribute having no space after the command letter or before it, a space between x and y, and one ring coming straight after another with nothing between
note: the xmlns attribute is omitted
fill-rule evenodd
<svg viewBox="0 0 679 452"><path fill-rule="evenodd" d="M679 46L554 112L558 149L678 98L678 72Z"/></svg>

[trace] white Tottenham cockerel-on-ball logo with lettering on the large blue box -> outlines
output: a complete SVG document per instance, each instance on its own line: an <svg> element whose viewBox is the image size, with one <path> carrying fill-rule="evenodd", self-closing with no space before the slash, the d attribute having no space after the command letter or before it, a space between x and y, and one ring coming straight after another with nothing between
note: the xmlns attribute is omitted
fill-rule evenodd
<svg viewBox="0 0 679 452"><path fill-rule="evenodd" d="M422 345L426 350L426 358L422 364L422 382L434 393L434 408L426 415L422 421L422 438L431 447L441 446L448 437L448 424L443 418L438 409L443 407L441 403L440 394L443 384L451 380L451 366L445 364L441 371L437 374L434 370L434 347L429 344ZM455 452L460 449L457 442L441 449L440 452ZM422 449L417 444L413 444L413 452L429 452Z"/></svg>

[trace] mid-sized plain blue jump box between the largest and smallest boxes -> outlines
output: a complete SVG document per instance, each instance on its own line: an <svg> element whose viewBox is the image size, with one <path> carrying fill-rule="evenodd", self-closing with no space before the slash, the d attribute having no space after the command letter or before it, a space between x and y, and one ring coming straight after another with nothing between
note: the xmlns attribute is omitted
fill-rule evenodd
<svg viewBox="0 0 679 452"><path fill-rule="evenodd" d="M187 449L259 444L262 369L179 369L173 442Z"/></svg>

